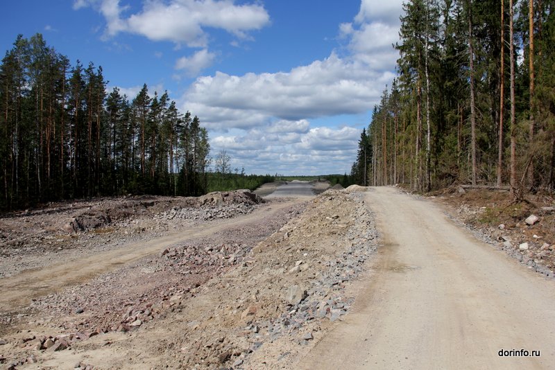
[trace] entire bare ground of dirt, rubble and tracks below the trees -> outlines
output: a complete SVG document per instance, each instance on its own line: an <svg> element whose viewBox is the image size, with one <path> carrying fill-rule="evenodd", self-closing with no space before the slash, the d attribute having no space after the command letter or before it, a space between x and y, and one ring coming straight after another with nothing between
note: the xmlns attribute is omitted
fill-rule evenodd
<svg viewBox="0 0 555 370"><path fill-rule="evenodd" d="M427 198L350 186L4 215L0 369L552 367L549 200ZM521 347L541 358L499 362Z"/></svg>

